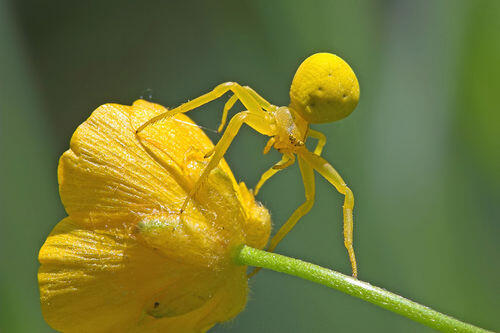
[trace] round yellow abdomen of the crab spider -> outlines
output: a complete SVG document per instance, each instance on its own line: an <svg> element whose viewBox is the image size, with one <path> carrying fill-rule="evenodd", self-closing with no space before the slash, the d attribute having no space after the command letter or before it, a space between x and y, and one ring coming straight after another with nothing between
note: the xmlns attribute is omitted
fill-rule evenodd
<svg viewBox="0 0 500 333"><path fill-rule="evenodd" d="M359 100L359 84L351 67L331 53L316 53L297 69L290 88L290 108L309 123L347 117Z"/></svg>

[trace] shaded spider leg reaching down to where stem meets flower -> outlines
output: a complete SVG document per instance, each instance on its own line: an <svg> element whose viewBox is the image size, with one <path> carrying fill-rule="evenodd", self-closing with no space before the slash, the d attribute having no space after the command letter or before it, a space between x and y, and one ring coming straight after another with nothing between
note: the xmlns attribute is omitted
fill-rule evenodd
<svg viewBox="0 0 500 333"><path fill-rule="evenodd" d="M285 237L286 234L288 234L290 230L292 230L292 228L302 216L306 215L311 210L314 204L314 195L316 191L316 186L314 183L314 170L300 156L298 159L302 181L304 182L306 201L293 212L293 214L288 218L285 224L283 224L280 230L278 230L278 232L271 239L269 247L267 248L267 251L269 252L272 252L276 248L283 237ZM253 272L248 275L248 277L250 278L254 276L258 271L260 271L260 268L254 269Z"/></svg>

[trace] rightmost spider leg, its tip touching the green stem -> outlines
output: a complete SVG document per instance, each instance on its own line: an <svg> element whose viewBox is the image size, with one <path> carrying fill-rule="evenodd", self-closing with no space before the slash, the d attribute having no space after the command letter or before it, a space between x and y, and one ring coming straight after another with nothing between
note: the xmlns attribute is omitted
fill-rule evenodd
<svg viewBox="0 0 500 333"><path fill-rule="evenodd" d="M352 231L353 231L353 218L352 211L354 208L354 195L347 184L344 182L342 177L339 175L337 170L328 163L324 158L311 153L310 151L304 149L298 152L299 161L303 158L314 170L318 171L320 175L326 178L341 194L344 195L344 245L349 254L349 260L351 261L352 276L358 276L358 268L356 264L356 256L354 255L354 247L352 242Z"/></svg>

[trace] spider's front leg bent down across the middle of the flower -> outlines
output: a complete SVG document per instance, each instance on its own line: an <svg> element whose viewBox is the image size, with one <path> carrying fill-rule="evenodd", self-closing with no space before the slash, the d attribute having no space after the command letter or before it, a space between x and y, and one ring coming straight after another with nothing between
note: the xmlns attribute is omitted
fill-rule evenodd
<svg viewBox="0 0 500 333"><path fill-rule="evenodd" d="M233 142L236 134L238 134L241 126L245 123L259 133L267 134L272 132L267 119L262 118L260 115L252 113L250 111L239 112L233 118L231 118L226 130L224 131L224 134L222 135L222 138L213 149L212 158L208 162L205 169L203 169L203 172L189 192L186 200L182 204L180 210L181 213L186 209L188 202L196 194L201 184L203 184L203 182L208 178L210 172L219 165L220 160L224 157L224 154Z"/></svg>

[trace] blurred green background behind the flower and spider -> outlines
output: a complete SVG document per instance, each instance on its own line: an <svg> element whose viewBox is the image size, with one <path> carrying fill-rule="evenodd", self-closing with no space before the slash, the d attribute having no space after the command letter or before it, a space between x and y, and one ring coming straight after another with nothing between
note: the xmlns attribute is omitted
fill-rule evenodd
<svg viewBox="0 0 500 333"><path fill-rule="evenodd" d="M343 57L361 86L350 117L315 126L356 197L360 278L499 330L499 32L497 0L0 0L0 331L51 331L37 253L65 216L58 157L92 110L141 96L172 107L229 80L286 105L297 66L318 51ZM190 115L216 128L222 105ZM278 159L264 143L245 129L227 155L249 186ZM303 201L297 169L259 194L276 227ZM313 210L277 252L350 273L342 197L317 181ZM213 329L429 331L270 271Z"/></svg>

